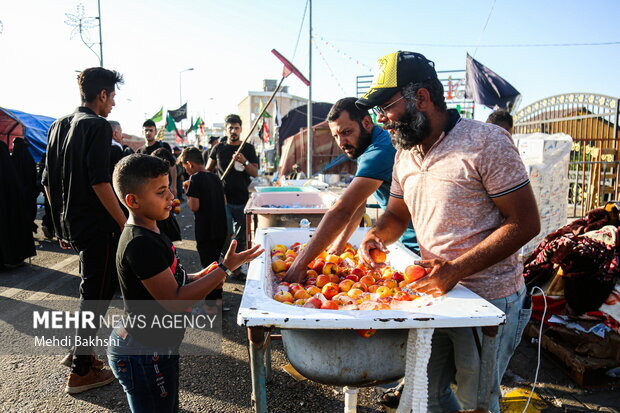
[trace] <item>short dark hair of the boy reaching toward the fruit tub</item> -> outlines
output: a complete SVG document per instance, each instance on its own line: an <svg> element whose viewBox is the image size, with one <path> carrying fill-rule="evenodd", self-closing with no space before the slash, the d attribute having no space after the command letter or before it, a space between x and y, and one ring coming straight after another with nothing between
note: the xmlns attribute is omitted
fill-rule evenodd
<svg viewBox="0 0 620 413"><path fill-rule="evenodd" d="M116 196L125 204L127 194L135 194L148 179L168 175L168 165L156 156L135 153L118 161L112 181Z"/></svg>

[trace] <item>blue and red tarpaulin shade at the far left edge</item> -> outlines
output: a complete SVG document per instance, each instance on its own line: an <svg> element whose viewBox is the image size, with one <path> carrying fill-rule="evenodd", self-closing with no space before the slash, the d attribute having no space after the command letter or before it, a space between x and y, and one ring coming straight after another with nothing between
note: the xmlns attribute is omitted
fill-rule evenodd
<svg viewBox="0 0 620 413"><path fill-rule="evenodd" d="M0 108L0 140L13 150L13 140L24 138L35 162L45 155L47 132L54 118L32 115L15 109Z"/></svg>

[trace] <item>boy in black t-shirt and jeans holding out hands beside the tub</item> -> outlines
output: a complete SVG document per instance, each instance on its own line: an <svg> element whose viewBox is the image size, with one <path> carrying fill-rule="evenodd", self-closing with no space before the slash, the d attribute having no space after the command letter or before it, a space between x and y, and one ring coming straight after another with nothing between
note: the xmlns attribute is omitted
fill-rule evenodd
<svg viewBox="0 0 620 413"><path fill-rule="evenodd" d="M161 159L142 154L123 158L114 169L114 190L130 212L116 255L126 317L149 320L182 313L221 286L228 268L234 270L263 252L256 246L235 253L233 242L218 267L185 274L172 242L157 227L172 209L168 169ZM157 312L145 312L144 301L157 304ZM165 328L112 330L108 360L133 412L178 411L178 347L183 334L184 330Z"/></svg>

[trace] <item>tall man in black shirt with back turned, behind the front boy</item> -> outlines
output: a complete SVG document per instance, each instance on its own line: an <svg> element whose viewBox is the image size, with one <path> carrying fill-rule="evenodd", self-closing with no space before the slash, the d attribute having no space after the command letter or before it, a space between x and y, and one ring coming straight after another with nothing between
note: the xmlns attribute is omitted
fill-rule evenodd
<svg viewBox="0 0 620 413"><path fill-rule="evenodd" d="M114 106L122 76L93 67L78 76L82 106L56 120L48 134L42 183L50 200L56 234L63 248L80 255L80 311L99 320L118 285L114 256L123 214L112 189L110 151L112 127L105 119ZM78 328L80 344L97 329ZM111 383L111 371L92 355L88 345L74 346L64 363L72 362L67 393L81 393Z"/></svg>

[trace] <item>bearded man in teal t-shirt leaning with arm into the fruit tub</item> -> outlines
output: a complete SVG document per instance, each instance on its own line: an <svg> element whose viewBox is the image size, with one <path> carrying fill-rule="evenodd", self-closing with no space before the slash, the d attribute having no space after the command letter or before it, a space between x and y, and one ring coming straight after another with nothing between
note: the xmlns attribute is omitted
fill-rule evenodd
<svg viewBox="0 0 620 413"><path fill-rule="evenodd" d="M396 149L390 134L376 126L368 111L355 106L356 98L344 98L332 106L327 121L338 146L357 162L357 172L349 187L327 211L312 239L300 251L285 280L299 282L306 277L307 266L332 244L329 253L342 253L349 237L359 226L366 210L366 200L374 193L385 210L390 197L392 168ZM418 252L418 243L411 224L401 241Z"/></svg>

